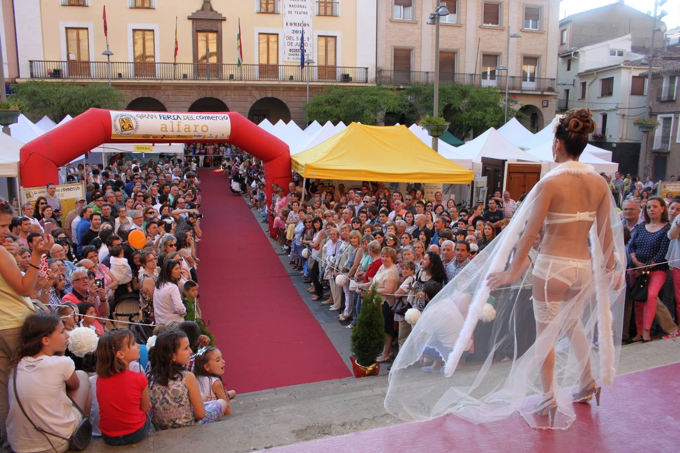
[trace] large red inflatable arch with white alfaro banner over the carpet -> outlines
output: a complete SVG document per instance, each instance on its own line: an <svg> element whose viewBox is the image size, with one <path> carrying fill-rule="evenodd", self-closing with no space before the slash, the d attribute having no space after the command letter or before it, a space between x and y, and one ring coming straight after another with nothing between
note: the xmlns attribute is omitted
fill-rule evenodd
<svg viewBox="0 0 680 453"><path fill-rule="evenodd" d="M197 136L211 138L193 138ZM262 160L265 165L267 200L271 200L272 183L288 189L288 145L239 113L231 111L199 113L89 109L21 148L21 184L24 187L38 187L57 181L59 166L103 143L226 141Z"/></svg>

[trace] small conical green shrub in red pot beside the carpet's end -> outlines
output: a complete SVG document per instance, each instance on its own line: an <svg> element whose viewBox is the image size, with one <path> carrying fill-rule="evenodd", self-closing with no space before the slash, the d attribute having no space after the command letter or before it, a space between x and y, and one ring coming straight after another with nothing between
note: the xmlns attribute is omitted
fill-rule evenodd
<svg viewBox="0 0 680 453"><path fill-rule="evenodd" d="M352 329L352 370L354 377L377 376L380 364L375 359L385 344L385 323L382 315L382 297L371 287L361 302L361 312Z"/></svg>

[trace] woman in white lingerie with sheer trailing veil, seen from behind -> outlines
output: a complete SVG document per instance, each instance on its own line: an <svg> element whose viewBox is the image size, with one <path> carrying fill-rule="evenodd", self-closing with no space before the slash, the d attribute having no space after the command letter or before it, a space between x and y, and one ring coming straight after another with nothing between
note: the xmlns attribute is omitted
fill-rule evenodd
<svg viewBox="0 0 680 453"><path fill-rule="evenodd" d="M553 154L560 165L532 189L503 234L430 302L433 307L445 304L458 309L428 305L400 350L386 397L386 407L395 416L422 419L453 413L479 423L517 411L531 427L566 429L575 419L574 402L595 397L599 404L597 379L611 385L617 359L613 338L620 338L623 308L619 304L625 270L619 258L625 256L620 221L605 179L578 162L588 134L595 130L590 111L568 111L556 118L554 130ZM523 281L525 258L541 228L545 235L532 276ZM526 297L522 295L495 302L513 307L512 329L475 329L478 321L490 322L488 312L482 310L488 301L517 294L496 290L527 284L532 285L531 300L522 300ZM533 305L535 325L515 314L515 307L522 304ZM451 314L447 329L441 329L442 312L449 311L460 311L462 317ZM500 363L497 355L494 359L496 347L507 344L508 337L488 332L522 329L536 329L534 344L524 354L517 354L515 348L510 363ZM475 356L459 366L473 333ZM598 334L596 350L592 344ZM451 344L452 335L456 344L449 348L445 345ZM420 384L427 392L411 391L409 380L417 379L411 365L421 359L423 348L433 345L447 357L445 375Z"/></svg>

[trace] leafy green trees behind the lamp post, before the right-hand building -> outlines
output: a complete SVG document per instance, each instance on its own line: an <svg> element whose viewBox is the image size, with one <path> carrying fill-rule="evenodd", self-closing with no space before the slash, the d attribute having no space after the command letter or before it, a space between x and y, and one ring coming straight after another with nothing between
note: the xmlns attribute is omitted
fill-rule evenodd
<svg viewBox="0 0 680 453"><path fill-rule="evenodd" d="M432 113L435 89L432 85L413 84L402 92L411 102L410 119ZM516 103L512 99L509 105ZM505 122L505 96L496 88L475 88L458 84L439 86L439 115L451 123L449 131L459 139L470 134L477 137L490 127ZM508 109L508 118L519 117L517 110Z"/></svg>

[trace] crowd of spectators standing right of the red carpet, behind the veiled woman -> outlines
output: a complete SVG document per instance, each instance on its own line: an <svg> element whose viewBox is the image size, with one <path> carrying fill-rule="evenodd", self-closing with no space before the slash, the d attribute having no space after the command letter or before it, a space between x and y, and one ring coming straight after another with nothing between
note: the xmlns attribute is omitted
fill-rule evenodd
<svg viewBox="0 0 680 453"><path fill-rule="evenodd" d="M297 178L288 187L274 185L272 198L265 200L256 164L235 162L230 171L249 184L251 207L265 216L263 222L267 215L274 217L273 234L289 252L292 269L309 283L311 301L337 312L347 329L356 325L365 291L377 284L384 295L387 334L378 361L392 360L411 331L403 310L393 308L422 311L428 297L503 234L524 198L513 200L509 192L496 191L486 202L459 209L441 192L426 198L418 185L401 193L369 181L336 187L316 180L303 187ZM622 223L632 234L622 340L649 341L650 331L674 338L680 316L680 200L670 193L655 196L658 187L651 179L645 185L630 175L602 176L613 181L612 195L623 206ZM648 300L633 301L630 287L642 270L651 270ZM405 304L397 304L400 298Z"/></svg>

